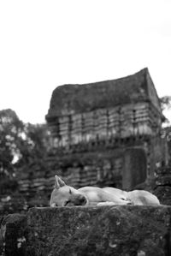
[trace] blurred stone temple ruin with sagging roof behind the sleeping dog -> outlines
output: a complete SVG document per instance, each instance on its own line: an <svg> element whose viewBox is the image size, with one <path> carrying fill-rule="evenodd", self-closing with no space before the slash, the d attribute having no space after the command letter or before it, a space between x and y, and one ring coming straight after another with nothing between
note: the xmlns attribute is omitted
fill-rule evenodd
<svg viewBox="0 0 171 256"><path fill-rule="evenodd" d="M131 190L168 161L148 68L117 80L57 86L46 116L54 174L69 185Z"/></svg>

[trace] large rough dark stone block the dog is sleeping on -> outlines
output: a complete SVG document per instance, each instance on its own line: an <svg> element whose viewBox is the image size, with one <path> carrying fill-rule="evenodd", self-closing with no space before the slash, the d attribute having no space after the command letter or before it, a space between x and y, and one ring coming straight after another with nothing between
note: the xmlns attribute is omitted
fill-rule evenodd
<svg viewBox="0 0 171 256"><path fill-rule="evenodd" d="M171 255L169 206L32 208L27 255Z"/></svg>

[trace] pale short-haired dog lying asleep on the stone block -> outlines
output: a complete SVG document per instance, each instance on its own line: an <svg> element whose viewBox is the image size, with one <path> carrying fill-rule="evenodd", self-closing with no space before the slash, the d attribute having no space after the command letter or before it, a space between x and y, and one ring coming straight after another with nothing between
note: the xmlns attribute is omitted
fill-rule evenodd
<svg viewBox="0 0 171 256"><path fill-rule="evenodd" d="M73 205L160 205L156 196L148 191L122 191L118 188L69 187L55 176L55 188L51 193L50 206Z"/></svg>

